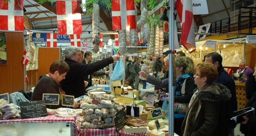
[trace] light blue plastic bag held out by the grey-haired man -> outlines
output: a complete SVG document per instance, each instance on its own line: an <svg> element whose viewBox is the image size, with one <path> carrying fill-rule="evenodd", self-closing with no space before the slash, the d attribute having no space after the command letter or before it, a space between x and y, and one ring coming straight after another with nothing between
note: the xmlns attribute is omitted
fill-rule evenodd
<svg viewBox="0 0 256 136"><path fill-rule="evenodd" d="M111 81L122 80L124 76L125 76L124 64L122 61L117 61L110 79Z"/></svg>

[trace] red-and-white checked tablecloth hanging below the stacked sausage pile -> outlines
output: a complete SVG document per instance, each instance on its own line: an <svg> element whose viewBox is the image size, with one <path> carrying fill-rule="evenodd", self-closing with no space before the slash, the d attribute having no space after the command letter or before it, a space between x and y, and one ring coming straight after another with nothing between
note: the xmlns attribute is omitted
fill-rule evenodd
<svg viewBox="0 0 256 136"><path fill-rule="evenodd" d="M82 117L76 118L76 125L78 129L78 136L148 136L148 132L144 133L123 133L121 130L116 132L116 127L104 128L104 129L80 129L79 121Z"/></svg>

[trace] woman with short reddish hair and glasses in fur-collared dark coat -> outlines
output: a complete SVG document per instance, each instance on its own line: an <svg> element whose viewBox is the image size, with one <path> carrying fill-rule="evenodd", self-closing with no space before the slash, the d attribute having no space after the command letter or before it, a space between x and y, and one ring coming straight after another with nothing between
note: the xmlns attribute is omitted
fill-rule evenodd
<svg viewBox="0 0 256 136"><path fill-rule="evenodd" d="M224 85L213 83L218 76L214 64L201 62L196 66L194 82L198 86L181 126L183 136L228 135L226 103L231 98Z"/></svg>

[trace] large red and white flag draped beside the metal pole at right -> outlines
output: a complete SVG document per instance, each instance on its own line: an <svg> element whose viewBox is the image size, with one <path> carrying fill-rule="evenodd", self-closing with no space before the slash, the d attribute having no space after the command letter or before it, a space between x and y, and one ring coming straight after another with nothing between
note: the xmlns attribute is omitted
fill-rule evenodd
<svg viewBox="0 0 256 136"><path fill-rule="evenodd" d="M180 43L189 53L195 51L194 18L191 0L177 0L175 4L181 22Z"/></svg>

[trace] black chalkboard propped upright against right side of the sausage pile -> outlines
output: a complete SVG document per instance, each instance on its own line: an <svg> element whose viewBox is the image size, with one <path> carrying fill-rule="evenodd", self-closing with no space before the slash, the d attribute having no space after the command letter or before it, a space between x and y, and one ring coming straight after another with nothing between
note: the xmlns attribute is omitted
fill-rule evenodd
<svg viewBox="0 0 256 136"><path fill-rule="evenodd" d="M117 112L114 120L116 125L116 132L118 132L126 125L125 109L121 109L119 112Z"/></svg>

